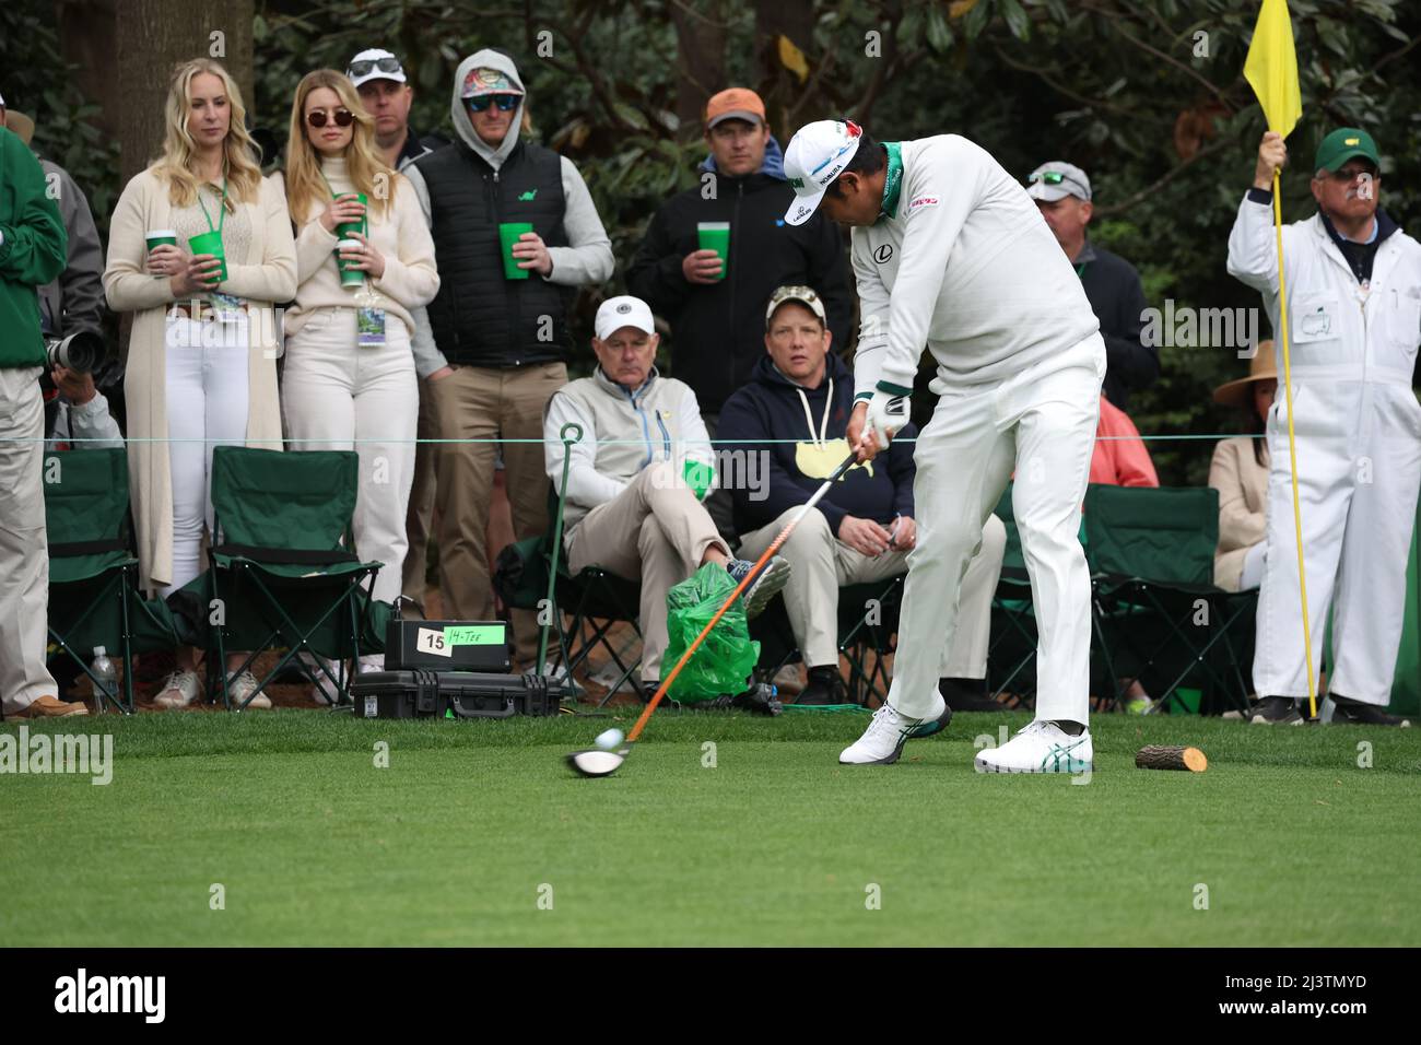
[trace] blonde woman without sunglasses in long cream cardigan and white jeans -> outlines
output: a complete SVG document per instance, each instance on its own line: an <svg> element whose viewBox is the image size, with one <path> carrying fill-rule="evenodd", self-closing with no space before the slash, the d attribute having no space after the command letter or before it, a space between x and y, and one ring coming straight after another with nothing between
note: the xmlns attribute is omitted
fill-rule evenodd
<svg viewBox="0 0 1421 1045"><path fill-rule="evenodd" d="M271 303L296 294L296 243L286 196L261 178L244 115L220 64L178 65L162 156L128 183L109 226L104 290L115 311L135 314L125 397L141 583L163 596L203 567L213 446L281 446ZM169 230L176 243L149 250L149 230ZM189 240L203 233L216 236L195 253ZM180 648L176 660L159 707L198 697L196 650ZM242 660L229 657L227 671ZM229 685L234 701L271 707L250 671Z"/></svg>

